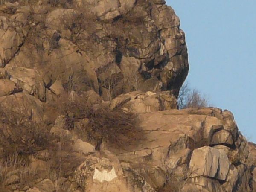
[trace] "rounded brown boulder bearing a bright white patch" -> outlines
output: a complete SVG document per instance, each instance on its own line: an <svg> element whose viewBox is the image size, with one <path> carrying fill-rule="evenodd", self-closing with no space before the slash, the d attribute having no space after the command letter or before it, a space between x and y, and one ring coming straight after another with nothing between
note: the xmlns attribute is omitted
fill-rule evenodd
<svg viewBox="0 0 256 192"><path fill-rule="evenodd" d="M124 169L124 172L123 172ZM133 176L125 178L132 172L127 166L120 165L119 160L108 151L96 152L86 158L75 171L75 179L88 192L140 192L143 189L154 190L133 171ZM130 175L129 175L130 176ZM150 191L150 190L148 190Z"/></svg>

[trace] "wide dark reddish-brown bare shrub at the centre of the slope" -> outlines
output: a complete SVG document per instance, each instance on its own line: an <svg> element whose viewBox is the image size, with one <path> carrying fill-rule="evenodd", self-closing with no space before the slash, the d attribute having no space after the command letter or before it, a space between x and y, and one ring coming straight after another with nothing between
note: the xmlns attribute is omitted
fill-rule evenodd
<svg viewBox="0 0 256 192"><path fill-rule="evenodd" d="M125 142L134 142L142 139L142 131L137 125L137 116L125 113L121 109L110 110L108 107L95 109L93 105L84 102L66 104L66 128L73 129L74 123L79 119L88 119L88 124L83 129L91 140L99 145L102 140L118 147Z"/></svg>

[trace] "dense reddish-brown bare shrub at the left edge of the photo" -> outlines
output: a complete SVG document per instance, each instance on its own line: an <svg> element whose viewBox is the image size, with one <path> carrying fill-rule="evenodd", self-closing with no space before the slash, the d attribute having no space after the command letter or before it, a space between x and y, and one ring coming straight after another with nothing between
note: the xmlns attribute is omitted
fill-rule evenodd
<svg viewBox="0 0 256 192"><path fill-rule="evenodd" d="M49 148L52 137L46 126L22 118L11 110L0 109L0 145L2 156L33 154Z"/></svg>

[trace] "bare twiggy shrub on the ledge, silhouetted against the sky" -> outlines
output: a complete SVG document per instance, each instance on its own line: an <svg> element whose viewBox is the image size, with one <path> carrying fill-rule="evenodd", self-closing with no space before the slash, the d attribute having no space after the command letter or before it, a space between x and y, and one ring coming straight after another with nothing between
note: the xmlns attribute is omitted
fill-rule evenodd
<svg viewBox="0 0 256 192"><path fill-rule="evenodd" d="M188 83L182 85L178 96L179 109L207 106L209 106L209 101L206 99L206 96L202 95L197 89L191 90Z"/></svg>

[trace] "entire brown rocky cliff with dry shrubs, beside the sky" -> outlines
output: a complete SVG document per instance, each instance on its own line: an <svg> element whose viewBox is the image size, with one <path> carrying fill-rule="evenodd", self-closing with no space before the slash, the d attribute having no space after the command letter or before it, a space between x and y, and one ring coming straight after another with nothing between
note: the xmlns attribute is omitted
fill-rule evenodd
<svg viewBox="0 0 256 192"><path fill-rule="evenodd" d="M177 110L164 0L0 2L0 191L256 192L230 111Z"/></svg>

